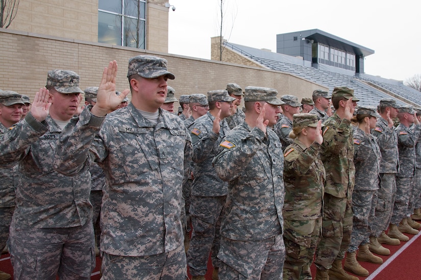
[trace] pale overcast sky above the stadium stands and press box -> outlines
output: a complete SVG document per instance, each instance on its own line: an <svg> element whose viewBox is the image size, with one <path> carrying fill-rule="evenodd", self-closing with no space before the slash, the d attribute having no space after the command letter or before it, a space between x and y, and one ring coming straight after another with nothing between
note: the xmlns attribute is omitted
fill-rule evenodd
<svg viewBox="0 0 421 280"><path fill-rule="evenodd" d="M421 1L224 0L224 39L276 52L276 35L319 29L375 51L365 73L397 80L421 74ZM168 52L210 59L220 0L169 0ZM231 35L230 35L231 33Z"/></svg>

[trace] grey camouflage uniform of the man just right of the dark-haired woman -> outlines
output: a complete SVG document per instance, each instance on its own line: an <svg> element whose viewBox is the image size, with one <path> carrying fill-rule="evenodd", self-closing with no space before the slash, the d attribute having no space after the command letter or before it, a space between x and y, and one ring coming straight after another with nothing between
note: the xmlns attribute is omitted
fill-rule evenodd
<svg viewBox="0 0 421 280"><path fill-rule="evenodd" d="M389 227L396 197L396 179L399 166L398 135L387 120L377 119L372 131L381 152L380 188L377 191L375 218L372 221L372 236L379 237Z"/></svg>

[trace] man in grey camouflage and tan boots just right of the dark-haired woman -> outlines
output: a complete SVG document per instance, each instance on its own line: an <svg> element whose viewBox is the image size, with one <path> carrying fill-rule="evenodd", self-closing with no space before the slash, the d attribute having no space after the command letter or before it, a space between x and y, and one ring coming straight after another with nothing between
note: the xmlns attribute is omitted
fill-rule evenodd
<svg viewBox="0 0 421 280"><path fill-rule="evenodd" d="M376 127L372 131L382 156L380 161L380 188L377 191L377 207L374 220L371 223L372 232L368 248L379 255L390 254L390 251L387 254L388 249L381 246L382 243L399 245L401 244L399 240L409 240L407 236L399 232L398 228L392 227L389 229L390 233L394 232L395 238L390 238L385 233L392 217L396 195L395 176L399 169L398 135L393 126L393 119L398 116L399 107L396 101L391 98L380 99L378 110L381 117L377 119Z"/></svg>

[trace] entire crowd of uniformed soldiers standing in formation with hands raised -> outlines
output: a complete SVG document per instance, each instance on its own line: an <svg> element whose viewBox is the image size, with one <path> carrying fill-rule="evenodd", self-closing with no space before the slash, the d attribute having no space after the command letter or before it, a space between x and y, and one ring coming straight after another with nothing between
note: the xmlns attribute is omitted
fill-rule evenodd
<svg viewBox="0 0 421 280"><path fill-rule="evenodd" d="M15 279L90 279L98 255L102 279L205 279L209 256L213 280L358 279L382 244L418 234L421 110L358 106L346 87L300 103L228 83L177 100L166 64L131 58L122 92L115 61L99 87L51 70L32 103L0 91Z"/></svg>

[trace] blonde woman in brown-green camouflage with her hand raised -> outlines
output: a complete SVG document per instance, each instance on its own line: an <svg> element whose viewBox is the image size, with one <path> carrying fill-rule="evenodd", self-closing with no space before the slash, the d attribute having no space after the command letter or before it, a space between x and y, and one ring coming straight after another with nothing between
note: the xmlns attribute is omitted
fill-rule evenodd
<svg viewBox="0 0 421 280"><path fill-rule="evenodd" d="M321 121L295 114L289 134L294 142L284 154L284 279L312 279L310 266L320 236L325 167L319 158Z"/></svg>

